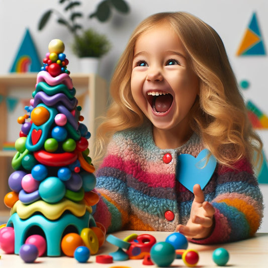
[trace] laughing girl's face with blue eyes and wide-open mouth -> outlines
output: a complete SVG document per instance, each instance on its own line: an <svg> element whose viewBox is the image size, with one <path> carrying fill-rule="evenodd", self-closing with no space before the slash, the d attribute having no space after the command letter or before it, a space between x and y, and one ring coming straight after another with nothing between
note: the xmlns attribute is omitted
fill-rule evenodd
<svg viewBox="0 0 268 268"><path fill-rule="evenodd" d="M168 23L136 41L131 75L134 101L159 130L189 130L189 111L199 92L184 46Z"/></svg>

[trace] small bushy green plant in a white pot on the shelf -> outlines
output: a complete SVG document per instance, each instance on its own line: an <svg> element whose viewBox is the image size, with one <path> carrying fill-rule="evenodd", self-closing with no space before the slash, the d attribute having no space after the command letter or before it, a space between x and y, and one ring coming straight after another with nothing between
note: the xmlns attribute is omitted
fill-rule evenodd
<svg viewBox="0 0 268 268"><path fill-rule="evenodd" d="M90 28L75 35L72 43L73 53L80 58L81 71L97 73L100 58L111 48L107 37Z"/></svg>

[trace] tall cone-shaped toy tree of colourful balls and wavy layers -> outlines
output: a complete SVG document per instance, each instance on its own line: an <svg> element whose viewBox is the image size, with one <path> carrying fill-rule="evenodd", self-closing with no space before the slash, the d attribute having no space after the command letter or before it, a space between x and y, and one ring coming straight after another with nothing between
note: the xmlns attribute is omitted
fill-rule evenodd
<svg viewBox="0 0 268 268"><path fill-rule="evenodd" d="M18 118L22 127L9 177L12 192L4 200L11 217L0 229L0 245L18 254L35 235L33 243L45 240L48 256L73 256L80 245L96 254L105 229L92 215L99 197L93 192L95 168L88 156L90 132L79 122L83 117L64 44L54 39L48 48L34 99L25 107L28 114Z"/></svg>

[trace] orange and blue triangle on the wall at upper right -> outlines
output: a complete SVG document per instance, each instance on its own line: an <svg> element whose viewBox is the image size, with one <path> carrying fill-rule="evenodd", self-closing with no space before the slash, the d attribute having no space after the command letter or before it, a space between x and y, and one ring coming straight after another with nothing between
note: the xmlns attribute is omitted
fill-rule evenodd
<svg viewBox="0 0 268 268"><path fill-rule="evenodd" d="M250 23L244 33L244 37L236 52L236 55L266 55L256 13L253 13L251 17Z"/></svg>

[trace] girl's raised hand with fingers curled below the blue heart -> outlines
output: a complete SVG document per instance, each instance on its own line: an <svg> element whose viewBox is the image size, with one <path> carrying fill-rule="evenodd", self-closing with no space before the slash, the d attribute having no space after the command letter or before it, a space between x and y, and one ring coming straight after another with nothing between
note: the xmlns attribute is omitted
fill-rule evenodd
<svg viewBox="0 0 268 268"><path fill-rule="evenodd" d="M192 204L190 219L186 225L179 224L176 231L189 239L202 239L210 235L213 229L213 216L215 209L205 201L204 193L199 184L194 186L195 199Z"/></svg>

